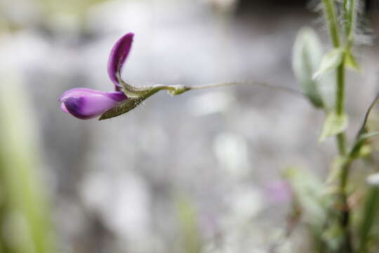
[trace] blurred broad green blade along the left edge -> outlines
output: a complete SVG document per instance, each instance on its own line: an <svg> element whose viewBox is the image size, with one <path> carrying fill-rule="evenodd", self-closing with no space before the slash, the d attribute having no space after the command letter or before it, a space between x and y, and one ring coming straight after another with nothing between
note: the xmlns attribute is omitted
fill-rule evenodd
<svg viewBox="0 0 379 253"><path fill-rule="evenodd" d="M8 35L4 35L11 39ZM5 40L5 39L4 39ZM3 41L1 34L0 44ZM0 64L0 252L53 253L35 117L20 75ZM6 63L6 65L5 65Z"/></svg>

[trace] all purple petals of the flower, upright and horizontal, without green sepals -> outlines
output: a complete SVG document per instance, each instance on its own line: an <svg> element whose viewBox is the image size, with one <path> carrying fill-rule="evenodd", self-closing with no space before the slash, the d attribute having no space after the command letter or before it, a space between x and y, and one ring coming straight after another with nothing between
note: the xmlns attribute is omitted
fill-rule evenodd
<svg viewBox="0 0 379 253"><path fill-rule="evenodd" d="M60 96L62 102L60 108L78 119L92 119L102 115L122 101L128 99L123 91L120 91L119 78L121 70L131 51L133 33L125 34L114 44L108 59L109 79L114 83L115 90L111 92L97 91L86 88L75 88L65 91Z"/></svg>

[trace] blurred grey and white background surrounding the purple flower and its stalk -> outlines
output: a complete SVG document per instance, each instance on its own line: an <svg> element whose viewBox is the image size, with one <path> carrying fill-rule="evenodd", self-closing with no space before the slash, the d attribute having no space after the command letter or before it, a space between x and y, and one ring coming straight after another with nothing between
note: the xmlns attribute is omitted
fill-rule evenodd
<svg viewBox="0 0 379 253"><path fill-rule="evenodd" d="M316 3L316 4L312 4ZM0 252L307 252L286 233L287 167L324 176L333 140L307 100L254 86L165 92L126 115L60 110L74 87L111 91L107 57L135 41L129 83L267 82L299 89L300 27L330 48L317 1L0 0ZM350 136L378 91L379 2L349 72Z"/></svg>

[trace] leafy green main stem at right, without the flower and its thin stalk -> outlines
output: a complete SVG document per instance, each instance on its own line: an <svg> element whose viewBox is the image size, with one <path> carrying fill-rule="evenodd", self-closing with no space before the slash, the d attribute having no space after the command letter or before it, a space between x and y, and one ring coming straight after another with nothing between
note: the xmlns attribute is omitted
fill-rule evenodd
<svg viewBox="0 0 379 253"><path fill-rule="evenodd" d="M294 46L293 66L298 82L310 101L326 111L320 141L335 136L338 147L338 157L335 158L328 180L323 187L318 190L310 188L314 180L305 180L304 176L299 176L297 180L290 178L297 196L296 200L305 214L314 217L312 212L319 210L320 207L324 210L321 219L311 223L310 226L311 231L317 231L312 233L315 245L318 245L317 252L370 252L371 228L375 221L375 212L378 212L378 190L375 186L369 187L368 193L364 194L366 197L364 207L360 208L350 201L350 198L358 193L356 188L349 185L352 162L364 156L368 139L378 135L378 132L371 132L367 127L370 112L378 100L376 96L369 105L361 128L350 145L345 136L348 126L345 112L345 70L347 67L357 72L360 70L354 57L353 46L359 32L357 24L358 16L361 14L361 4L359 0L321 1L333 48L324 53L317 70L312 70L316 62L314 59L319 60L317 34L310 32L309 29L300 31ZM325 94L319 92L322 86L318 82L331 74L334 76L334 81L328 82L328 86L331 86L330 91L334 91L334 105L328 108L323 103L328 99ZM296 187L298 181L301 181L305 187ZM310 191L315 191L314 195L318 197L303 197ZM319 205L311 210L309 210L312 207L309 204L310 199L319 201ZM357 213L362 215L362 219L355 222L352 216ZM305 221L309 222L308 218Z"/></svg>

